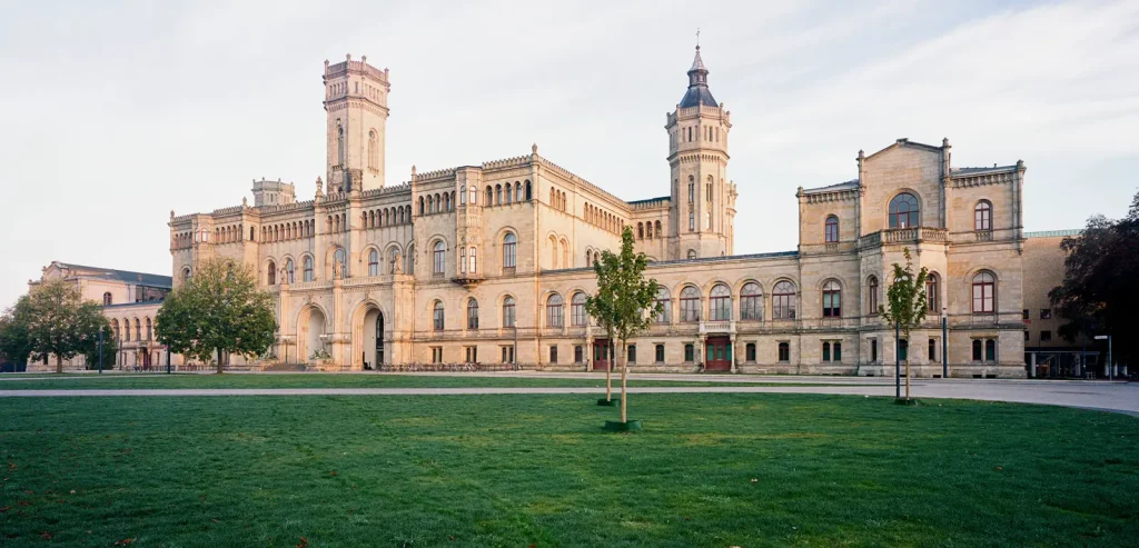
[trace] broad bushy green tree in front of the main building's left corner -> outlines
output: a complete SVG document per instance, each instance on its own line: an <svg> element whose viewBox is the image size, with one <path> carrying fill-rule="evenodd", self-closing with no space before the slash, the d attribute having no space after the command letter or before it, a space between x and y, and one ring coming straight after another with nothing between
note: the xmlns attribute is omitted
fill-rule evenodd
<svg viewBox="0 0 1139 548"><path fill-rule="evenodd" d="M223 260L198 264L194 276L166 296L155 314L158 342L204 362L222 352L260 355L277 330L274 297L259 291L253 271Z"/></svg>

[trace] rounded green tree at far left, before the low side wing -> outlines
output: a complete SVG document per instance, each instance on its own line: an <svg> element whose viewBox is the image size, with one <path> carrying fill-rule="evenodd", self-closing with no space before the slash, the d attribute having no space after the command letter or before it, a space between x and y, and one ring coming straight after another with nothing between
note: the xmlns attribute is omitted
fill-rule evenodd
<svg viewBox="0 0 1139 548"><path fill-rule="evenodd" d="M25 360L56 357L56 373L64 373L64 360L71 360L99 340L99 326L106 325L103 306L83 301L79 287L63 279L47 280L21 297L13 309L9 324L11 336L25 336ZM21 335L21 330L24 334ZM19 358L17 355L16 358Z"/></svg>

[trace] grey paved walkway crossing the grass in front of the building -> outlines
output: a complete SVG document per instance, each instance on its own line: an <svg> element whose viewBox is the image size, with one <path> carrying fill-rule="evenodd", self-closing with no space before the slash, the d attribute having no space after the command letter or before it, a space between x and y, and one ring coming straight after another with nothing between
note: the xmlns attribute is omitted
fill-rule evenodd
<svg viewBox="0 0 1139 548"><path fill-rule="evenodd" d="M567 373L420 374L424 376L481 376L528 378L595 378L604 375ZM762 375L657 375L631 376L638 381L718 383L778 383L782 386L636 386L633 394L678 393L790 393L893 396L893 379L883 377L775 377ZM813 384L816 386L802 386ZM823 385L823 386L819 386ZM1099 381L916 379L911 392L918 399L966 399L1043 403L1099 409L1139 417L1139 384ZM220 395L480 395L480 394L604 394L605 387L457 387L457 388L140 388L140 390L0 390L0 398L43 396L220 396Z"/></svg>

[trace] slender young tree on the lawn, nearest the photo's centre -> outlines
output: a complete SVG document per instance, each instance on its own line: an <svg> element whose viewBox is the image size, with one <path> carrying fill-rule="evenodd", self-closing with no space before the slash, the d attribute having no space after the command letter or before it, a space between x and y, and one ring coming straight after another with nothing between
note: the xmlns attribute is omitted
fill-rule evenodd
<svg viewBox="0 0 1139 548"><path fill-rule="evenodd" d="M621 367L621 422L629 422L626 383L629 363L625 359L630 338L648 328L653 317L661 312L656 301L661 288L655 279L645 279L648 259L644 253L633 253L633 230L625 227L621 232L621 254L601 252L601 259L593 264L597 273L597 294L585 297L585 310L598 326L605 329L612 344L614 337L621 342L616 358ZM612 398L609 373L605 373L606 399Z"/></svg>

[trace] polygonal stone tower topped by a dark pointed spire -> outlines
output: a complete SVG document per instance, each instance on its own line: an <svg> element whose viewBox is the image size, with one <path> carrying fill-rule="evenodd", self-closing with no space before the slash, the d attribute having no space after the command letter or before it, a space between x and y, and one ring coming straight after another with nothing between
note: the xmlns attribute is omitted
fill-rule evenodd
<svg viewBox="0 0 1139 548"><path fill-rule="evenodd" d="M664 126L672 167L672 259L732 254L737 194L727 180L730 113L712 97L707 77L697 43L688 90Z"/></svg>

